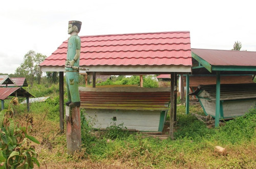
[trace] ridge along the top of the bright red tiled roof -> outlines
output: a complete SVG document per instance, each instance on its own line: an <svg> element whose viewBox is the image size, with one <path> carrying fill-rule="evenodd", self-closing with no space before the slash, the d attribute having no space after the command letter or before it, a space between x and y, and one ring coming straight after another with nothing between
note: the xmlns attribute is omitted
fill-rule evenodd
<svg viewBox="0 0 256 169"><path fill-rule="evenodd" d="M189 31L170 31L170 32L153 32L153 33L128 33L128 34L106 34L106 35L85 35L79 36L80 38L84 37L108 37L108 36L123 36L123 35L149 35L149 34L181 34L181 33L190 33Z"/></svg>

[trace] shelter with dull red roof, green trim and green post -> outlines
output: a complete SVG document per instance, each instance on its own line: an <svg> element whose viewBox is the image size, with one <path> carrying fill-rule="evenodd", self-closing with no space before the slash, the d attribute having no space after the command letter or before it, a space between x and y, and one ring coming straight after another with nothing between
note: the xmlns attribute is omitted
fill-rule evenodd
<svg viewBox="0 0 256 169"><path fill-rule="evenodd" d="M256 73L256 52L250 51L235 51L235 50L213 50L213 49L191 49L193 57L193 75L215 75L216 86L215 90L215 126L219 126L220 118L224 118L225 115L222 113L222 101L221 92L225 93L225 85L221 85L222 76L237 76L237 75L253 75ZM251 76L252 77L252 76ZM187 84L189 84L189 75L186 78ZM243 86L240 85L242 89ZM187 92L189 85L186 86ZM234 87L234 86L229 86ZM203 88L202 88L203 89ZM212 87L211 87L212 89ZM251 87L248 88L250 90ZM236 93L235 88L233 90ZM208 90L205 90L207 92ZM239 90L238 90L239 91ZM209 92L209 91L208 91ZM246 91L242 91L245 93ZM211 94L212 95L212 94ZM201 96L199 96L201 97ZM234 99L236 97L233 97ZM213 99L213 98L212 98ZM232 98L230 98L232 99ZM189 100L186 100L187 105ZM188 114L189 108L186 107L186 113ZM228 111L228 110L227 110Z"/></svg>

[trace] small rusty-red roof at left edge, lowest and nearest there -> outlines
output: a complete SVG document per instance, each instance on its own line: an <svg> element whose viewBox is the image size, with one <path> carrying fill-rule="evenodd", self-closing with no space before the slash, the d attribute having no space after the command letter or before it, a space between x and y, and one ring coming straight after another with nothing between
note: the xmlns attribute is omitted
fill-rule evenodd
<svg viewBox="0 0 256 169"><path fill-rule="evenodd" d="M34 97L23 88L0 88L0 100L4 100L8 96L15 96L15 92L17 92L19 97Z"/></svg>

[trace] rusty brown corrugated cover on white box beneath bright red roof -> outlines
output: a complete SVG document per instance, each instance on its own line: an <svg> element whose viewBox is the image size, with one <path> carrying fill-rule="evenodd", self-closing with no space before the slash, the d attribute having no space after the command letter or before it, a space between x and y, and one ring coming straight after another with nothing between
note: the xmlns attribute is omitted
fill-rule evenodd
<svg viewBox="0 0 256 169"><path fill-rule="evenodd" d="M80 91L80 99L83 108L167 110L170 93Z"/></svg>

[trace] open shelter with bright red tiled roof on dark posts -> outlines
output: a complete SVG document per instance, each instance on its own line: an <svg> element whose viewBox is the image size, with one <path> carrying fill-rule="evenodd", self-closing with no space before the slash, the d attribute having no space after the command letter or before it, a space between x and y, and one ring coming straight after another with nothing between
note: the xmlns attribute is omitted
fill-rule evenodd
<svg viewBox="0 0 256 169"><path fill-rule="evenodd" d="M186 74L191 72L189 32L80 36L80 67L96 75ZM63 122L63 72L68 40L39 66L60 72L60 123ZM177 81L177 80L176 80ZM170 90L170 134L173 133L175 78ZM154 90L154 89L152 89ZM61 117L62 116L62 117ZM118 121L117 123L118 124ZM60 124L63 129L63 124Z"/></svg>

